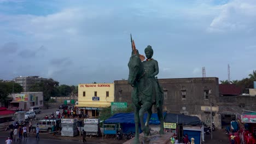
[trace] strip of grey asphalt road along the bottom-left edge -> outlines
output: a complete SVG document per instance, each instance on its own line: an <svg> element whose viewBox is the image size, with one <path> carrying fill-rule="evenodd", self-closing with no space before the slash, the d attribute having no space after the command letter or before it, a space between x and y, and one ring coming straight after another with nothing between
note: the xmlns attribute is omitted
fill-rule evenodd
<svg viewBox="0 0 256 144"><path fill-rule="evenodd" d="M5 140L7 139L6 136L0 136L0 143L5 143ZM27 144L51 144L51 143L54 143L54 144L57 144L57 143L61 143L61 144L75 144L75 143L83 143L82 142L79 142L78 140L77 141L69 141L69 140L45 140L45 139L40 139L40 140L36 140L36 138L28 138L28 139L22 139L21 141L15 141L13 143L27 143ZM92 142L88 142L88 144L98 144L98 143L92 143Z"/></svg>

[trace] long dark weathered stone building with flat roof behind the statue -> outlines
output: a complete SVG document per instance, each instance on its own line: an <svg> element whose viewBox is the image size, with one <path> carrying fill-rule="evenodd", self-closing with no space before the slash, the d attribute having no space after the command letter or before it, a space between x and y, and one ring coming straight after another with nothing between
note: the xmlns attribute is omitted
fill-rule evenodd
<svg viewBox="0 0 256 144"><path fill-rule="evenodd" d="M159 79L164 89L165 112L184 113L198 116L202 122L210 125L210 104L212 101L212 121L220 127L217 101L219 98L219 80L217 77L199 77L184 79ZM126 80L114 81L115 101L131 104L132 87ZM153 110L155 111L155 110ZM156 112L156 111L155 111Z"/></svg>

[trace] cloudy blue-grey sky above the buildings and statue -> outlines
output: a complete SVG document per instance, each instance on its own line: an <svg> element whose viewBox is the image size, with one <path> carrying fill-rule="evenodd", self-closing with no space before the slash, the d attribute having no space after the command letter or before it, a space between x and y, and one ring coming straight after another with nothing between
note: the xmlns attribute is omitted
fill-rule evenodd
<svg viewBox="0 0 256 144"><path fill-rule="evenodd" d="M159 78L240 80L256 69L256 1L0 0L0 79L127 79L130 33Z"/></svg>

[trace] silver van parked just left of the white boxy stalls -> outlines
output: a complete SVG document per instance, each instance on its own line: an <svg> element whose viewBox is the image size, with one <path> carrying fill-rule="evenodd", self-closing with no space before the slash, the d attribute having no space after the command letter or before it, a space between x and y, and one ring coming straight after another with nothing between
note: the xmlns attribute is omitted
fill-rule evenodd
<svg viewBox="0 0 256 144"><path fill-rule="evenodd" d="M33 133L36 133L36 127L38 125L40 131L48 131L48 133L51 133L51 127L56 124L61 124L61 119L43 119L38 121L37 124L32 125L32 131Z"/></svg>

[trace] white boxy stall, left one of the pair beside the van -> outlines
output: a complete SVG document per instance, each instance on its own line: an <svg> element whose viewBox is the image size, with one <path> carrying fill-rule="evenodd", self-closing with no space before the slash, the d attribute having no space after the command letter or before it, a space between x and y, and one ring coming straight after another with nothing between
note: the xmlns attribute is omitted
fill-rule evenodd
<svg viewBox="0 0 256 144"><path fill-rule="evenodd" d="M61 136L76 136L78 135L77 130L77 119L61 119Z"/></svg>

